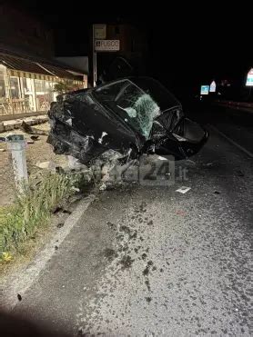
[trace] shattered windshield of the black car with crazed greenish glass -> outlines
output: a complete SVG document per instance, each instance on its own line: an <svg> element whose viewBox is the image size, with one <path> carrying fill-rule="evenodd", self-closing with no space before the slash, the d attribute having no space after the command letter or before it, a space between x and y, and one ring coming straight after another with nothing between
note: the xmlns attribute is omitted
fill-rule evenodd
<svg viewBox="0 0 253 337"><path fill-rule="evenodd" d="M160 108L150 94L133 82L122 80L96 89L96 96L116 114L124 113L125 121L148 139L153 121L160 114Z"/></svg>

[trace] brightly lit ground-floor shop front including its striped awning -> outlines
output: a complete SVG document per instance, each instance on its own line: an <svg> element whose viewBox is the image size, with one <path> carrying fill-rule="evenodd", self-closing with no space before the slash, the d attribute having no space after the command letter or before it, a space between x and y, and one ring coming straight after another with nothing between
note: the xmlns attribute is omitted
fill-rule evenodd
<svg viewBox="0 0 253 337"><path fill-rule="evenodd" d="M27 68L37 73L25 71ZM6 59L0 54L0 115L46 112L61 94L56 90L58 84L65 82L71 90L85 88L86 74L73 75L56 65L42 65L9 55Z"/></svg>

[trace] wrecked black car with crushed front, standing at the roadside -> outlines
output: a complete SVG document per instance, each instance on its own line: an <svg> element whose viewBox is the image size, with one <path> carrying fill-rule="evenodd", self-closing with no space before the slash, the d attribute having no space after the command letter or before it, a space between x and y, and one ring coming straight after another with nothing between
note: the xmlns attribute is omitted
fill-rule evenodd
<svg viewBox="0 0 253 337"><path fill-rule="evenodd" d="M177 99L148 77L63 94L48 115L47 142L55 153L86 165L112 150L122 162L141 154L184 159L207 141L207 132L185 117Z"/></svg>

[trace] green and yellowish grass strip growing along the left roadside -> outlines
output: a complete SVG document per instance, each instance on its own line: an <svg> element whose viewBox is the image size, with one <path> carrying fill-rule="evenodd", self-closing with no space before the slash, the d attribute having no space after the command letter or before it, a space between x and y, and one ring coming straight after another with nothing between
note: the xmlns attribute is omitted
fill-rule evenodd
<svg viewBox="0 0 253 337"><path fill-rule="evenodd" d="M29 248L27 243L46 227L56 206L76 193L79 179L73 173L42 174L16 193L12 205L0 208L0 266Z"/></svg>

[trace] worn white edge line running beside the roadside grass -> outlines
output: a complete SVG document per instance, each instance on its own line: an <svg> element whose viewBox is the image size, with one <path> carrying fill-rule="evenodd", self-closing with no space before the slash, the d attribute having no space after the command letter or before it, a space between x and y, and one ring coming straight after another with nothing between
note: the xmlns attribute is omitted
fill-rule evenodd
<svg viewBox="0 0 253 337"><path fill-rule="evenodd" d="M1 287L1 298L3 297L1 299L1 306L5 311L12 311L15 308L18 303L17 294L19 293L22 297L25 295L25 292L28 291L39 274L45 269L46 263L56 253L56 241L59 247L66 239L67 234L70 233L76 223L79 222L89 205L95 200L95 194L90 194L86 196L85 199L82 199L77 204L75 211L67 217L64 226L53 235L50 242L46 243L42 251L37 253L35 260L30 263L23 272L11 276L11 278L8 279L8 285L4 283L4 286Z"/></svg>

